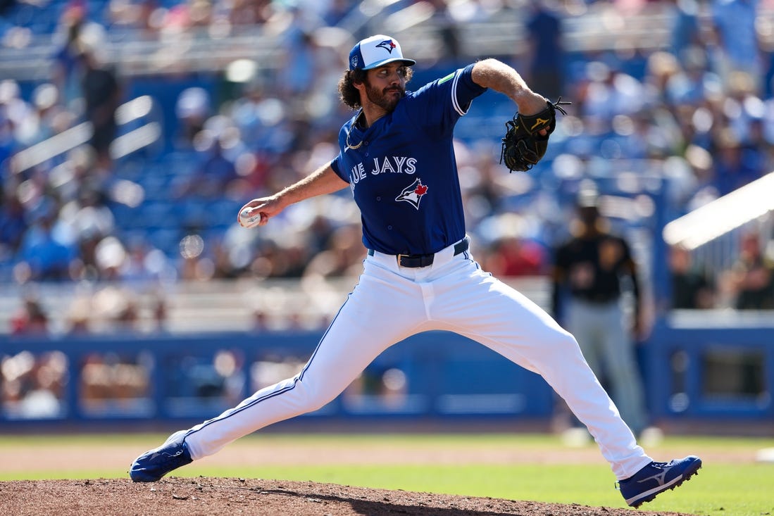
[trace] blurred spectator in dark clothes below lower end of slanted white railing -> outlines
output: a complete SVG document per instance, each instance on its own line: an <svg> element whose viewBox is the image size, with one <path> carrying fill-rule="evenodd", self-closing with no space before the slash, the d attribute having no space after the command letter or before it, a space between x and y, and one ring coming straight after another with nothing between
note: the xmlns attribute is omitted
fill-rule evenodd
<svg viewBox="0 0 774 516"><path fill-rule="evenodd" d="M710 309L715 305L713 279L694 265L691 252L680 245L670 248L673 309Z"/></svg>

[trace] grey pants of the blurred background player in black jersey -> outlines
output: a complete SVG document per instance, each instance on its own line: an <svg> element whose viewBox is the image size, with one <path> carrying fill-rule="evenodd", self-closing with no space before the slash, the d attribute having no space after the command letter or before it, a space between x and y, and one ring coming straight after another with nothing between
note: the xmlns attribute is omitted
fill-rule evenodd
<svg viewBox="0 0 774 516"><path fill-rule="evenodd" d="M619 300L570 299L567 305L567 330L577 339L591 370L598 378L604 373L610 382L611 396L624 421L635 432L642 432L647 425L645 395L627 321Z"/></svg>

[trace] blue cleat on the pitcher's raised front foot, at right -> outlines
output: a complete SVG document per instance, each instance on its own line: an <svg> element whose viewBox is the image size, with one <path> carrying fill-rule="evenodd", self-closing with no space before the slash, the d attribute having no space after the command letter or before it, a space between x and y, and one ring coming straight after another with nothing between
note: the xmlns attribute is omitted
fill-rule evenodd
<svg viewBox="0 0 774 516"><path fill-rule="evenodd" d="M618 489L626 503L636 508L652 501L656 494L683 484L698 473L700 467L701 459L694 455L668 463L652 462L632 477L619 481Z"/></svg>

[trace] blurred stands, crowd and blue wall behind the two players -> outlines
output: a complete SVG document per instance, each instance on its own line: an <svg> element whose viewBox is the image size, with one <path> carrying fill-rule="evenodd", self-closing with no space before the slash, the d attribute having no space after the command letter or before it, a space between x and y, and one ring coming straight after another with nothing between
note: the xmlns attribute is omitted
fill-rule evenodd
<svg viewBox="0 0 774 516"><path fill-rule="evenodd" d="M550 309L593 185L639 265L652 428L772 435L771 0L0 0L0 431L198 422L300 371L361 270L351 193L260 230L237 210L334 158L374 33L409 89L493 56L572 101L527 174L498 163L505 96L457 125L474 257ZM567 425L447 333L299 424L344 420Z"/></svg>

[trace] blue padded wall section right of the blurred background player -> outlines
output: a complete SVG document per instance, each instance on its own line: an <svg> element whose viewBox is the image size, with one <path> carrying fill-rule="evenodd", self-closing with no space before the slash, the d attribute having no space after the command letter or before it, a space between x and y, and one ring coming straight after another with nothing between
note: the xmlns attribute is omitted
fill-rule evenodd
<svg viewBox="0 0 774 516"><path fill-rule="evenodd" d="M744 315L656 324L646 344L654 418L774 422L774 314Z"/></svg>

